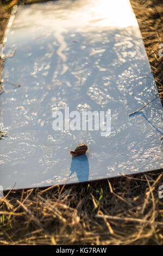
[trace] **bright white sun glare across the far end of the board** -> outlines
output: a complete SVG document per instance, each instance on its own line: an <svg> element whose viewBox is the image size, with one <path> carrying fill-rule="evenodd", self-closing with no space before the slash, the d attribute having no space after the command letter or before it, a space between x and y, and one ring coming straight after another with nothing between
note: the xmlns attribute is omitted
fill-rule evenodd
<svg viewBox="0 0 163 256"><path fill-rule="evenodd" d="M59 32L67 29L85 32L85 29L96 31L104 27L137 27L135 15L130 11L129 0L63 0L57 1L55 5L49 2L42 6L40 9L34 4L23 11L23 14L19 13L21 22L16 25L24 27L30 22L35 26L46 26Z"/></svg>

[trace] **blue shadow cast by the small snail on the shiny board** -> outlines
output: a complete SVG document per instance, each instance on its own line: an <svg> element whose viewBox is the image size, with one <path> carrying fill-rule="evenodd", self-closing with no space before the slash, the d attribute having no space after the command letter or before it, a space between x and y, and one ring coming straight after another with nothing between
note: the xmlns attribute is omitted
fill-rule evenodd
<svg viewBox="0 0 163 256"><path fill-rule="evenodd" d="M72 157L71 175L76 172L79 182L87 181L89 179L89 161L85 154L77 157Z"/></svg>

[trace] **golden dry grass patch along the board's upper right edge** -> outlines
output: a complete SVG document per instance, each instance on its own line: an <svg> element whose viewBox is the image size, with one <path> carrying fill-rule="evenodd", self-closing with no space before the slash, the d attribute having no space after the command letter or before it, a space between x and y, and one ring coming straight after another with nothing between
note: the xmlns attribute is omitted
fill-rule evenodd
<svg viewBox="0 0 163 256"><path fill-rule="evenodd" d="M130 2L139 22L163 105L163 57L160 57L158 53L159 45L163 44L163 2L162 0L130 0Z"/></svg>

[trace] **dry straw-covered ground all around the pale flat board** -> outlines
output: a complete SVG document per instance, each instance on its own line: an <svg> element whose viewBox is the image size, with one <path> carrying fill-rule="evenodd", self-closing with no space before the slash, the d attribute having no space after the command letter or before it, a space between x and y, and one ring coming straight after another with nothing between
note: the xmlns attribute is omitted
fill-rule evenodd
<svg viewBox="0 0 163 256"><path fill-rule="evenodd" d="M11 7L22 2L34 1L0 0L1 43ZM130 2L162 99L162 0ZM0 245L163 245L160 185L162 170L77 185L7 191L0 198Z"/></svg>

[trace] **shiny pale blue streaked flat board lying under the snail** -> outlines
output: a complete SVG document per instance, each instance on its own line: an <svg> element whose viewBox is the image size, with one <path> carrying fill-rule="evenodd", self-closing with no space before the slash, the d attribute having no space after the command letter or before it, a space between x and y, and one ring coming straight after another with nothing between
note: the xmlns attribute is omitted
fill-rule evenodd
<svg viewBox="0 0 163 256"><path fill-rule="evenodd" d="M123 2L123 3L122 3ZM5 39L0 97L3 189L97 180L163 167L162 106L129 1L57 1L20 7ZM118 8L117 8L118 6ZM143 78L146 77L146 78ZM53 131L52 113L111 109L111 134ZM89 151L68 153L80 142Z"/></svg>

